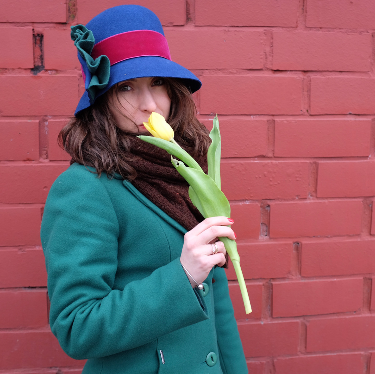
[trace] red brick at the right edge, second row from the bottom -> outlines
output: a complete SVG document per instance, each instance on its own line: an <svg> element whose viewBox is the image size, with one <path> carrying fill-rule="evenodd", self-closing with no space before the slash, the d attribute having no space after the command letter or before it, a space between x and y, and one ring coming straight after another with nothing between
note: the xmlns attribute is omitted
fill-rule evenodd
<svg viewBox="0 0 375 374"><path fill-rule="evenodd" d="M364 349L375 346L375 316L346 316L310 320L307 352Z"/></svg>

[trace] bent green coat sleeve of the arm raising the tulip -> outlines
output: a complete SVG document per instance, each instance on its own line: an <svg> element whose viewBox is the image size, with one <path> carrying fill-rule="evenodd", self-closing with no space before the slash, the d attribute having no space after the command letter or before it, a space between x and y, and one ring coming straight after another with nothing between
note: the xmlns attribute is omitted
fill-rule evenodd
<svg viewBox="0 0 375 374"><path fill-rule="evenodd" d="M117 217L100 179L76 174L55 181L41 227L50 325L63 350L75 359L108 356L207 319L178 258L113 289Z"/></svg>

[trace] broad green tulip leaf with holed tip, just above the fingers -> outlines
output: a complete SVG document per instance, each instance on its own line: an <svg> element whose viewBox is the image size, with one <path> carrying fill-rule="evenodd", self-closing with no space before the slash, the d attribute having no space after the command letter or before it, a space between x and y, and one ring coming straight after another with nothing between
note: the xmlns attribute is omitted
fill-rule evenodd
<svg viewBox="0 0 375 374"><path fill-rule="evenodd" d="M230 217L231 207L228 199L223 192L217 187L214 180L203 171L186 167L183 162L171 158L172 164L178 173L186 179L193 193L189 197L193 197L197 204L192 203L198 208L204 218L225 216ZM198 206L197 206L198 205ZM200 209L199 209L200 208Z"/></svg>

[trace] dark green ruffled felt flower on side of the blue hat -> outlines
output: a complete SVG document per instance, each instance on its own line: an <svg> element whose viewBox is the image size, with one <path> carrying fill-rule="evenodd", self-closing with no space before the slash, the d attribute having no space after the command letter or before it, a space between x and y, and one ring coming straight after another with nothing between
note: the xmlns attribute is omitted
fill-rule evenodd
<svg viewBox="0 0 375 374"><path fill-rule="evenodd" d="M110 59L106 55L101 55L95 60L91 57L91 52L95 45L95 38L91 30L84 25L71 27L71 38L78 52L86 61L87 68L91 73L89 85L85 84L86 90L90 97L90 102L95 99L96 93L107 86L110 80Z"/></svg>

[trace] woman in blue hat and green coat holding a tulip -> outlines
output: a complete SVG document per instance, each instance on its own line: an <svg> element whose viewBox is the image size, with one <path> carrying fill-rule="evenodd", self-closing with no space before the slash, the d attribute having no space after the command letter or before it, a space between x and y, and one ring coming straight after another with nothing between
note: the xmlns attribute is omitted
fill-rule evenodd
<svg viewBox="0 0 375 374"><path fill-rule="evenodd" d="M233 220L203 220L170 155L135 136L159 113L206 167L190 94L201 83L170 60L144 7L108 9L72 39L86 93L60 133L71 167L41 228L52 332L88 359L83 373L247 373L216 242L236 238Z"/></svg>

